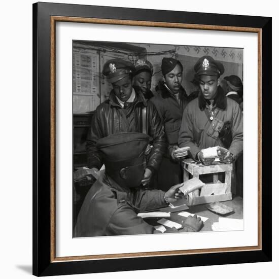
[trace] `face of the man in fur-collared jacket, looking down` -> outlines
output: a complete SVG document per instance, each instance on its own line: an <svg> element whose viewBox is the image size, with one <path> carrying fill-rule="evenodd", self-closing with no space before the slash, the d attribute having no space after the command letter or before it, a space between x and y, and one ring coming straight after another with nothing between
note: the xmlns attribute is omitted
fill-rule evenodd
<svg viewBox="0 0 279 279"><path fill-rule="evenodd" d="M219 85L219 78L216 76L199 76L199 88L204 99L214 99Z"/></svg>

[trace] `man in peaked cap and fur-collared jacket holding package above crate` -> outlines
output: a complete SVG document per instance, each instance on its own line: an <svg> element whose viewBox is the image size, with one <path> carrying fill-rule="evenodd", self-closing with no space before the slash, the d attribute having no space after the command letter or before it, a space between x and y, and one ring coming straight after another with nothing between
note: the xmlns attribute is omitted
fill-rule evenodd
<svg viewBox="0 0 279 279"><path fill-rule="evenodd" d="M230 164L243 150L242 113L239 105L226 98L220 84L224 66L211 56L202 56L194 65L199 84L198 98L192 100L184 111L179 132L179 147L189 146L191 157L203 164L203 149L225 148L221 163Z"/></svg>

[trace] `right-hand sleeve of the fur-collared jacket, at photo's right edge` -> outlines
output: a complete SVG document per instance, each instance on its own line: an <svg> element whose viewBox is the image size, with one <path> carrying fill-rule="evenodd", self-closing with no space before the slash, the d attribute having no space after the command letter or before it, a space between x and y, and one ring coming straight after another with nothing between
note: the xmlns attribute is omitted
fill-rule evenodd
<svg viewBox="0 0 279 279"><path fill-rule="evenodd" d="M233 119L232 119L232 143L230 145L229 151L237 158L243 150L243 122L242 122L242 112L239 105L233 103Z"/></svg>

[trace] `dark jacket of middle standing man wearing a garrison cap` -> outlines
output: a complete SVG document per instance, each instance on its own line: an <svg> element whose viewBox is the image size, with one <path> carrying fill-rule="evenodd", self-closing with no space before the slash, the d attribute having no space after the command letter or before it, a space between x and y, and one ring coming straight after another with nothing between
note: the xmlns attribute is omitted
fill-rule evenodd
<svg viewBox="0 0 279 279"><path fill-rule="evenodd" d="M163 83L160 82L158 86L158 95L153 97L151 101L155 104L163 120L168 145L177 145L183 111L188 103L187 94L181 87L178 100Z"/></svg>

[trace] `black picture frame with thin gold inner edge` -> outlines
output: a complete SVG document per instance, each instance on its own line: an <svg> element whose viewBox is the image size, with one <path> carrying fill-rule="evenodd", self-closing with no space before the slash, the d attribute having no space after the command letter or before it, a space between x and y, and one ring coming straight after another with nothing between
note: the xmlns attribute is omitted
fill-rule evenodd
<svg viewBox="0 0 279 279"><path fill-rule="evenodd" d="M228 29L229 27L257 29L261 38L259 45L261 125L258 130L261 162L270 161L269 154L271 154L272 19L270 17L72 4L33 4L33 274L47 276L271 261L271 162L268 166L263 164L259 166L261 239L257 250L79 261L55 259L54 252L51 251L53 245L51 235L55 228L51 223L51 208L55 202L52 198L51 185L55 184L55 177L50 175L55 173L55 164L51 163L55 156L51 150L51 145L55 143L55 138L51 137L55 128L51 113L55 109L55 102L51 98L51 87L54 86L51 83L51 73L55 73L55 69L51 69L52 16L195 24L209 29L214 29L214 26L226 26ZM261 187L262 185L264 187Z"/></svg>

